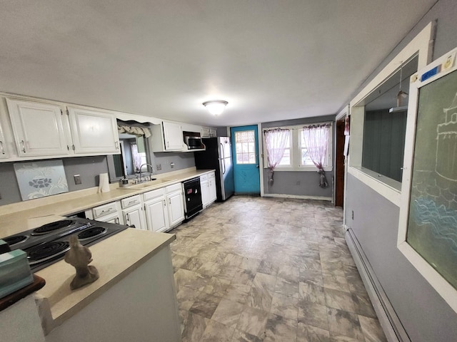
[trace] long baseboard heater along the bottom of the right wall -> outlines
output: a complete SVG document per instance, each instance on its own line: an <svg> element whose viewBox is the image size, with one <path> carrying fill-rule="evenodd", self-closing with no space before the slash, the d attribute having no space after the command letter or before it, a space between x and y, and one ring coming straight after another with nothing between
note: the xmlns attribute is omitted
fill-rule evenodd
<svg viewBox="0 0 457 342"><path fill-rule="evenodd" d="M346 229L346 243L387 340L389 342L411 342L352 229Z"/></svg>

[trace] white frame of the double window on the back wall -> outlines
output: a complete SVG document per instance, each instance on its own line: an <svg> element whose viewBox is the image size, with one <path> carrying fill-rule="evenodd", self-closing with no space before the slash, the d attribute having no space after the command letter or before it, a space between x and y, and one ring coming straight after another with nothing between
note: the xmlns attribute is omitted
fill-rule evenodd
<svg viewBox="0 0 457 342"><path fill-rule="evenodd" d="M307 125L323 125L330 124L330 134L328 135L328 148L327 148L327 158L326 165L323 166L324 171L333 170L333 123L331 121L326 121L323 123L303 123L301 125L292 125L292 126L281 126L276 128L288 129L291 131L291 165L290 166L281 166L278 165L274 168L274 171L313 171L316 172L317 168L314 165L301 165L301 131L303 127ZM266 130L272 130L274 128L264 128L263 132ZM263 168L268 169L268 158L266 152L266 143L265 135L263 134Z"/></svg>

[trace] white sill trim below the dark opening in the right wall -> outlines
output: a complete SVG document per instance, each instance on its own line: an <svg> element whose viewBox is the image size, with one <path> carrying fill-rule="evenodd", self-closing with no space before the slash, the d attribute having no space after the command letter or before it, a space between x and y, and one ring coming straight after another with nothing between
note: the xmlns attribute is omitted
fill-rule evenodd
<svg viewBox="0 0 457 342"><path fill-rule="evenodd" d="M361 182L363 182L363 184L367 185L368 187L371 187L371 189L378 192L379 195L385 197L393 204L395 204L397 207L400 207L401 192L397 190L395 187L386 184L386 180L389 180L390 182L396 182L395 180L391 180L390 178L385 176L376 177L376 175L378 175L376 172L373 172L368 169L362 170L358 167L352 166L348 167L348 173L356 177ZM370 175L369 173L373 173L374 175ZM379 180L379 178L382 178L383 181Z"/></svg>

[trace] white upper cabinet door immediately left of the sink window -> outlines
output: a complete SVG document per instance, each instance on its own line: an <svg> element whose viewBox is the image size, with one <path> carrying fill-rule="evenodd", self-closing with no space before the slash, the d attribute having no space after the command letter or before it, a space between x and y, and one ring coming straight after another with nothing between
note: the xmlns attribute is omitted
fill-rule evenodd
<svg viewBox="0 0 457 342"><path fill-rule="evenodd" d="M68 109L75 153L120 153L114 115L79 108Z"/></svg>

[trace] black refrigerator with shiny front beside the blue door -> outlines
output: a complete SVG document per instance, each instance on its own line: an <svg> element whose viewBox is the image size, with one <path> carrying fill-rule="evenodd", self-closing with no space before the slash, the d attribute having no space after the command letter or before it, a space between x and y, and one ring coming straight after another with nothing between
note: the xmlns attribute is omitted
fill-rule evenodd
<svg viewBox="0 0 457 342"><path fill-rule="evenodd" d="M201 141L206 150L194 152L195 166L197 170L216 170L217 200L225 201L235 191L230 138L203 138Z"/></svg>

